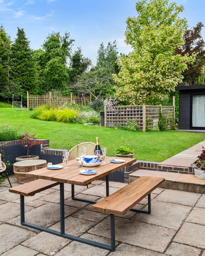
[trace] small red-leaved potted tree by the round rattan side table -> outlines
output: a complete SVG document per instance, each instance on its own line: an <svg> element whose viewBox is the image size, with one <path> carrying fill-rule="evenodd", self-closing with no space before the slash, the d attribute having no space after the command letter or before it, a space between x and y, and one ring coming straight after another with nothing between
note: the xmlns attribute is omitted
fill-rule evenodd
<svg viewBox="0 0 205 256"><path fill-rule="evenodd" d="M24 132L23 135L20 136L18 139L20 143L23 144L24 148L26 149L27 154L21 157L15 158L16 161L24 161L24 160L36 160L39 159L38 155L29 155L30 149L34 145L42 144L43 141L36 139L36 133L31 135L28 131Z"/></svg>

